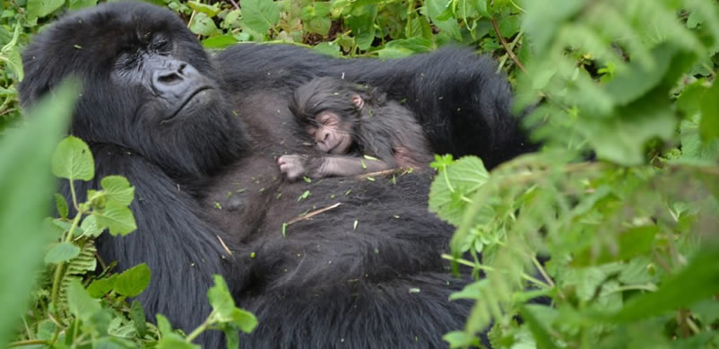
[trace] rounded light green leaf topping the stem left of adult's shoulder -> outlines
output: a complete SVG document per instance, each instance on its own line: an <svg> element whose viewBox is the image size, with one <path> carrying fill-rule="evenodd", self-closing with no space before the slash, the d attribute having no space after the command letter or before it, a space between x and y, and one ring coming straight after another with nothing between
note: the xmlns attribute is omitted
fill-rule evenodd
<svg viewBox="0 0 719 349"><path fill-rule="evenodd" d="M82 139L70 135L57 144L52 154L52 173L61 179L90 180L95 177L95 161Z"/></svg>

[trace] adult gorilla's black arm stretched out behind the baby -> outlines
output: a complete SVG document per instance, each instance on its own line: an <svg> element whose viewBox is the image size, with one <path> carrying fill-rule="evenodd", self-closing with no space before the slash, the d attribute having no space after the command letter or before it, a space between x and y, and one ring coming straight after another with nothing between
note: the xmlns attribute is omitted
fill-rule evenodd
<svg viewBox="0 0 719 349"><path fill-rule="evenodd" d="M476 154L488 168L533 151L511 112L512 94L496 64L467 48L442 48L402 59L339 59L306 48L238 45L216 57L237 93L289 94L316 75L368 83L405 103L435 153ZM271 62L271 63L268 63Z"/></svg>

